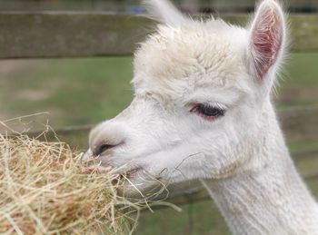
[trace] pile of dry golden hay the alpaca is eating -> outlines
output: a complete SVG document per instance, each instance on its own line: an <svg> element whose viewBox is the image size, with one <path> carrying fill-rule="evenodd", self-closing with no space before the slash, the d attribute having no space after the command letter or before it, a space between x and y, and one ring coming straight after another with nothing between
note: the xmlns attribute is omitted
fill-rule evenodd
<svg viewBox="0 0 318 235"><path fill-rule="evenodd" d="M116 194L117 176L98 168L88 171L80 157L63 142L0 134L0 233L131 230L128 215L116 207L131 206Z"/></svg>

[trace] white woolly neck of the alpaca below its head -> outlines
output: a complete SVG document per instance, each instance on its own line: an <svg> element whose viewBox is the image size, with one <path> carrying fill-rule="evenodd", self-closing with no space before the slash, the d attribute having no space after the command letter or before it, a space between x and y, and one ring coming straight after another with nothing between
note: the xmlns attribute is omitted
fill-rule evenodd
<svg viewBox="0 0 318 235"><path fill-rule="evenodd" d="M275 118L267 136L276 136L273 144L253 156L263 160L262 167L204 180L205 188L234 234L318 234L318 206L294 168Z"/></svg>

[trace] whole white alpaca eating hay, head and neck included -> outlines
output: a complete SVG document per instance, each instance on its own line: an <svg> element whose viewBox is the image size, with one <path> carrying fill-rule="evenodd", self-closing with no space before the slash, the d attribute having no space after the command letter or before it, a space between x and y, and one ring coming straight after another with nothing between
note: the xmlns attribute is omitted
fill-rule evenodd
<svg viewBox="0 0 318 235"><path fill-rule="evenodd" d="M94 128L89 152L134 171L140 191L154 187L149 175L201 179L235 234L318 234L270 97L286 44L280 5L264 0L242 28L145 2L162 24L135 54L134 101Z"/></svg>

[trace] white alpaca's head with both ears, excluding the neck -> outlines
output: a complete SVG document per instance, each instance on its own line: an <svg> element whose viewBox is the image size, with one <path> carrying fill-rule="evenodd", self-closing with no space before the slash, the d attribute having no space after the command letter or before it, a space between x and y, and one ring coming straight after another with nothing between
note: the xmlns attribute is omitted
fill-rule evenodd
<svg viewBox="0 0 318 235"><path fill-rule="evenodd" d="M131 172L142 191L156 180L221 179L257 167L285 44L280 5L264 0L242 28L188 19L165 0L145 3L161 24L134 55L134 101L94 128L89 152Z"/></svg>

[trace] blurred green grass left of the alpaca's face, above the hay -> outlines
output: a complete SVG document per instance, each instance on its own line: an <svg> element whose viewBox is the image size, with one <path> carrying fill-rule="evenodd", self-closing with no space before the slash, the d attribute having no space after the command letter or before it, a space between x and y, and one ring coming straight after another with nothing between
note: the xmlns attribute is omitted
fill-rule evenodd
<svg viewBox="0 0 318 235"><path fill-rule="evenodd" d="M55 127L100 122L130 103L132 75L130 57L18 64L12 73L1 74L2 115L49 112Z"/></svg>

